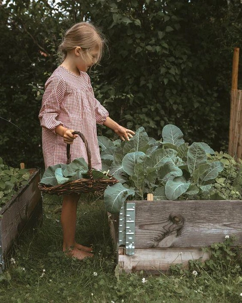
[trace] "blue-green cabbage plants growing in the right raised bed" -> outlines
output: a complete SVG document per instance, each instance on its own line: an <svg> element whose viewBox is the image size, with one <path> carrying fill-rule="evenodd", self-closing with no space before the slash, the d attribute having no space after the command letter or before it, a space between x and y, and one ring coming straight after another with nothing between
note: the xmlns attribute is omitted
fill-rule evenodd
<svg viewBox="0 0 242 303"><path fill-rule="evenodd" d="M174 125L163 128L160 141L148 137L143 127L130 141L118 144L105 137L99 137L98 141L102 169L110 170L120 182L108 186L104 192L110 213L117 213L128 196L143 200L149 192L158 200L241 198L235 187L236 176L240 177L238 171L231 176L233 182L226 183L230 195L219 187L222 180L225 182L220 173L224 165L228 167L225 156L219 154L219 157L217 153L211 156L214 150L204 142L185 143L183 133ZM236 170L231 158L232 163Z"/></svg>

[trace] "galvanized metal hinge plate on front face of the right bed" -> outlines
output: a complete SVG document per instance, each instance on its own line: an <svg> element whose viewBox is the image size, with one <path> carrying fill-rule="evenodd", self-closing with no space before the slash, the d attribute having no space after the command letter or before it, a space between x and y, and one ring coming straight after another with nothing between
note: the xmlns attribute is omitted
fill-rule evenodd
<svg viewBox="0 0 242 303"><path fill-rule="evenodd" d="M126 226L125 226L125 253L135 254L135 203L126 203Z"/></svg>

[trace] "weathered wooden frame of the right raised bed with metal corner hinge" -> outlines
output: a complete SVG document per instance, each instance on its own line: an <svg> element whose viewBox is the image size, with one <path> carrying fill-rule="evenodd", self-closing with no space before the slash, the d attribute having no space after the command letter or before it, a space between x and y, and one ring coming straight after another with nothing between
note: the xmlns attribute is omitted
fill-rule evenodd
<svg viewBox="0 0 242 303"><path fill-rule="evenodd" d="M226 235L242 246L241 200L127 201L109 215L118 269L167 272L171 265L206 260L210 247Z"/></svg>

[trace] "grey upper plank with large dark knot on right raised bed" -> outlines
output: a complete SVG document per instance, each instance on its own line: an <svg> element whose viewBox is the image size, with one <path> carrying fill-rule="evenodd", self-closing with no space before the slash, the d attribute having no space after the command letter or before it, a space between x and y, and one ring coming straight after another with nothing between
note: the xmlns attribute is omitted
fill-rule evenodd
<svg viewBox="0 0 242 303"><path fill-rule="evenodd" d="M135 201L135 247L204 247L235 235L242 243L242 201Z"/></svg>

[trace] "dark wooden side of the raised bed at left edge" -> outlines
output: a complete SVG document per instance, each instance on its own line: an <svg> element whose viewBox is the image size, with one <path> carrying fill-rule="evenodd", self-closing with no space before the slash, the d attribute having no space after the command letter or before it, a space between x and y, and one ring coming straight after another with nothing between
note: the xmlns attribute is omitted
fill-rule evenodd
<svg viewBox="0 0 242 303"><path fill-rule="evenodd" d="M42 219L42 197L38 188L40 170L29 169L28 184L0 210L0 272L5 269L5 258L24 228L34 227Z"/></svg>

